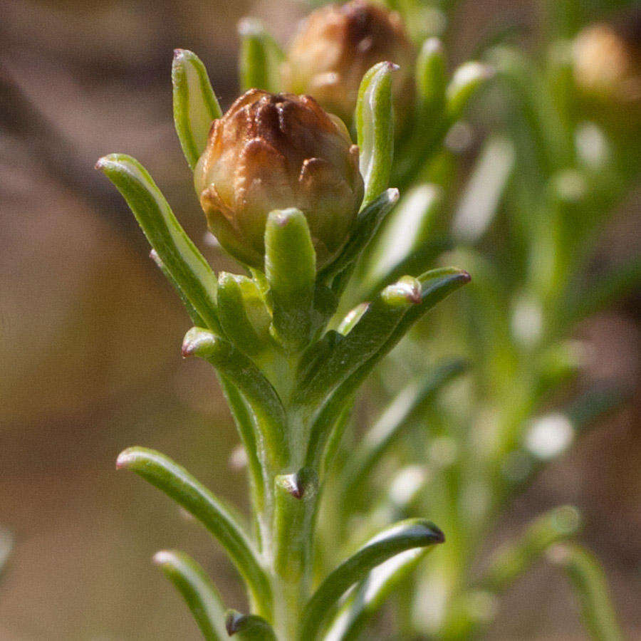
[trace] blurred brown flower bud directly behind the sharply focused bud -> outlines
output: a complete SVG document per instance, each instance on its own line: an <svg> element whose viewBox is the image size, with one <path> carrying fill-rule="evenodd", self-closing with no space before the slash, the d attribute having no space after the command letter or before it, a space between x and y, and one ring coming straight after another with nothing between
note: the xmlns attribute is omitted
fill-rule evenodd
<svg viewBox="0 0 641 641"><path fill-rule="evenodd" d="M294 93L313 95L324 109L351 123L363 75L390 61L400 66L393 85L398 118L411 102L414 60L414 47L395 11L365 0L330 4L302 22L283 63L283 83Z"/></svg>

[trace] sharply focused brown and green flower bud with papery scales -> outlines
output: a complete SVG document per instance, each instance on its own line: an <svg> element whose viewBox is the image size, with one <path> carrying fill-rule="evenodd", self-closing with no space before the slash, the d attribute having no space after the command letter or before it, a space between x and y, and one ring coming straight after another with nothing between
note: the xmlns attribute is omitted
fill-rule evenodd
<svg viewBox="0 0 641 641"><path fill-rule="evenodd" d="M259 269L273 209L305 214L320 268L345 244L363 199L358 147L345 125L309 96L258 89L214 120L194 182L220 244Z"/></svg>

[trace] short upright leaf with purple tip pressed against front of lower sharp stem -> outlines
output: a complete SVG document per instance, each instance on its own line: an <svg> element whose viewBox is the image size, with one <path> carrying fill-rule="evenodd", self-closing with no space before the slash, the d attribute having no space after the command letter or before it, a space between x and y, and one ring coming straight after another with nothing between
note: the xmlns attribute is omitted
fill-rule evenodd
<svg viewBox="0 0 641 641"><path fill-rule="evenodd" d="M276 476L274 485L273 566L281 578L293 583L303 578L311 563L318 476L303 468Z"/></svg>

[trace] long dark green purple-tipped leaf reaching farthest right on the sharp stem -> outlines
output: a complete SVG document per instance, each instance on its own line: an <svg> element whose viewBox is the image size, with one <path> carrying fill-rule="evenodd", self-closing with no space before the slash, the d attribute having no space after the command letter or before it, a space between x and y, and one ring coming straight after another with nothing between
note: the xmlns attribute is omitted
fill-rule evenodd
<svg viewBox="0 0 641 641"><path fill-rule="evenodd" d="M420 283L419 302L407 308L380 348L372 353L369 360L366 360L363 365L346 377L333 394L326 397L323 404L318 407L310 427L306 464L313 466L313 462L323 457L325 440L334 424L335 417L343 410L345 399L358 388L379 360L390 352L418 318L450 293L469 283L470 277L469 273L462 269L444 267L428 271L419 276L417 280ZM363 318L361 318L362 320ZM352 332L348 336L351 334Z"/></svg>

